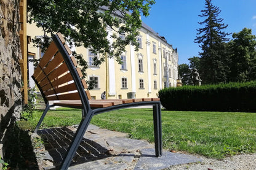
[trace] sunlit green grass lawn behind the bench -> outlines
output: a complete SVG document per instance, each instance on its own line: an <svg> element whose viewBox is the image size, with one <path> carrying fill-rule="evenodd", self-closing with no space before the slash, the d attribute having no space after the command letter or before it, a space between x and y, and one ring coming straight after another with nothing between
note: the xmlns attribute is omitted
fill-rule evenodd
<svg viewBox="0 0 256 170"><path fill-rule="evenodd" d="M19 122L33 129L42 111ZM75 125L81 111L50 110L41 128ZM239 153L256 152L256 113L178 112L162 110L164 149L197 153L210 158L223 158ZM133 139L154 142L152 109L122 109L95 115L92 124L129 133Z"/></svg>

